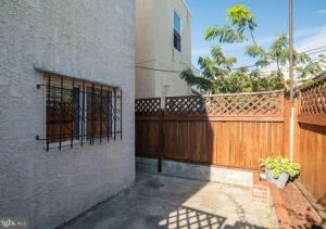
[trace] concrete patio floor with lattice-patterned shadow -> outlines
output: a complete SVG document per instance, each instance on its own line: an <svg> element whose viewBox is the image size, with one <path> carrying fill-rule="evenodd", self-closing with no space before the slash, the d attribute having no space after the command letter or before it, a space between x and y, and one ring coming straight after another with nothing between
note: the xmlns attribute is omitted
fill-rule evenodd
<svg viewBox="0 0 326 229"><path fill-rule="evenodd" d="M61 226L108 228L276 228L275 214L252 188L153 174Z"/></svg>

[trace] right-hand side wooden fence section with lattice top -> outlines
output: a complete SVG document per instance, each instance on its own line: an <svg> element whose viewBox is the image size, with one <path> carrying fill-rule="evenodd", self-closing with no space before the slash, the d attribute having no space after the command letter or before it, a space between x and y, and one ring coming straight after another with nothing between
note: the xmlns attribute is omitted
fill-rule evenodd
<svg viewBox="0 0 326 229"><path fill-rule="evenodd" d="M294 160L300 181L326 207L326 75L300 90L294 126Z"/></svg>

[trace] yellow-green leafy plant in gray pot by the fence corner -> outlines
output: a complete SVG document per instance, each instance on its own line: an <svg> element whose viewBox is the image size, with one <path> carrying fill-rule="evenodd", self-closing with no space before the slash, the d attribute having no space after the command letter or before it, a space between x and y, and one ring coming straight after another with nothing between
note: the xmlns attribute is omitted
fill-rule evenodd
<svg viewBox="0 0 326 229"><path fill-rule="evenodd" d="M300 165L284 156L260 160L260 166L265 170L266 180L284 189L289 178L294 178L300 173Z"/></svg>

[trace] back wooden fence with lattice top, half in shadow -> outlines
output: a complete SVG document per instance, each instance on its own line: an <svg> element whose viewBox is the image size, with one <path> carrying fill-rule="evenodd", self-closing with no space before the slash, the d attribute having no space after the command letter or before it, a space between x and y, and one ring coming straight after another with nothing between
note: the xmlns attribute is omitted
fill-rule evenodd
<svg viewBox="0 0 326 229"><path fill-rule="evenodd" d="M259 168L288 155L289 109L283 91L167 97L136 101L136 155ZM160 165L160 164L159 164Z"/></svg>

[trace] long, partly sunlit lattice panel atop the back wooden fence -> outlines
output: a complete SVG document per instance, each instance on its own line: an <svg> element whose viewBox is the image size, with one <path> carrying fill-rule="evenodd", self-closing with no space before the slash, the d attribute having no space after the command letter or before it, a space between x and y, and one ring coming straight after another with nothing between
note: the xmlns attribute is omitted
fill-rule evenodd
<svg viewBox="0 0 326 229"><path fill-rule="evenodd" d="M165 98L165 111L170 114L281 116L284 114L284 92L167 97Z"/></svg>

